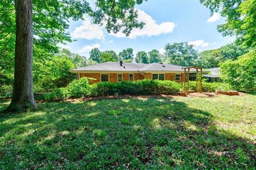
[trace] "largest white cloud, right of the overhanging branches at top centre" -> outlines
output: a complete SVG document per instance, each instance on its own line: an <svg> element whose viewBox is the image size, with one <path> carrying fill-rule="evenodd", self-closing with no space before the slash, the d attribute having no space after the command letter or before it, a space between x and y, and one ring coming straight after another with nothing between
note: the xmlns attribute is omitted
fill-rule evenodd
<svg viewBox="0 0 256 170"><path fill-rule="evenodd" d="M138 9L137 9L138 10ZM142 21L145 23L142 29L134 28L129 35L129 38L136 37L144 37L144 36L157 36L161 34L172 33L175 23L174 22L162 22L160 24L156 23L156 21L145 11L138 10L138 21ZM116 37L126 37L125 34L122 33L122 30L117 34L110 33L110 35Z"/></svg>

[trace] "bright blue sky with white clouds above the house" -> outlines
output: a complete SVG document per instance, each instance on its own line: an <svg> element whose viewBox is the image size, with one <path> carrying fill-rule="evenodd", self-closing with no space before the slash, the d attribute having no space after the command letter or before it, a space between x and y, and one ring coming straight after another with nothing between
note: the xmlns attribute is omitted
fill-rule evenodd
<svg viewBox="0 0 256 170"><path fill-rule="evenodd" d="M114 50L117 53L133 48L134 53L161 52L166 43L189 42L200 51L221 47L233 42L233 37L223 37L217 25L225 22L218 13L212 17L210 10L198 1L148 0L136 7L138 20L146 23L142 30L133 30L130 37L122 33L108 34L103 27L93 25L90 18L71 21L69 33L77 41L61 45L71 52L89 56L93 47L101 51Z"/></svg>

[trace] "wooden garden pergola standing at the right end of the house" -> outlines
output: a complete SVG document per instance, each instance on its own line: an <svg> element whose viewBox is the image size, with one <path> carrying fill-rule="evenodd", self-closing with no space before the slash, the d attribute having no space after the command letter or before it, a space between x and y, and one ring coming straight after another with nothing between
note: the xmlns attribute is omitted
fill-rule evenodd
<svg viewBox="0 0 256 170"><path fill-rule="evenodd" d="M189 93L189 72L190 69L196 69L196 92L198 92L198 70L200 70L200 76L199 76L199 93L202 93L202 75L203 75L203 68L197 67L197 66L191 66L191 67L183 67L184 69L184 90L185 85L187 82L187 93ZM187 71L187 72L186 72ZM187 73L187 79L186 79L186 73Z"/></svg>

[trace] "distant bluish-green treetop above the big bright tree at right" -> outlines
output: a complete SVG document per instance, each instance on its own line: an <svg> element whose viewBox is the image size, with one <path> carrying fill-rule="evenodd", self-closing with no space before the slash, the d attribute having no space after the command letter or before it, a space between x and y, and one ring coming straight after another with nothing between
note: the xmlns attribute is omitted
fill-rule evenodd
<svg viewBox="0 0 256 170"><path fill-rule="evenodd" d="M227 44L218 49L223 55L224 60L236 60L238 56L246 54L249 52L249 48L237 45L235 43Z"/></svg>

